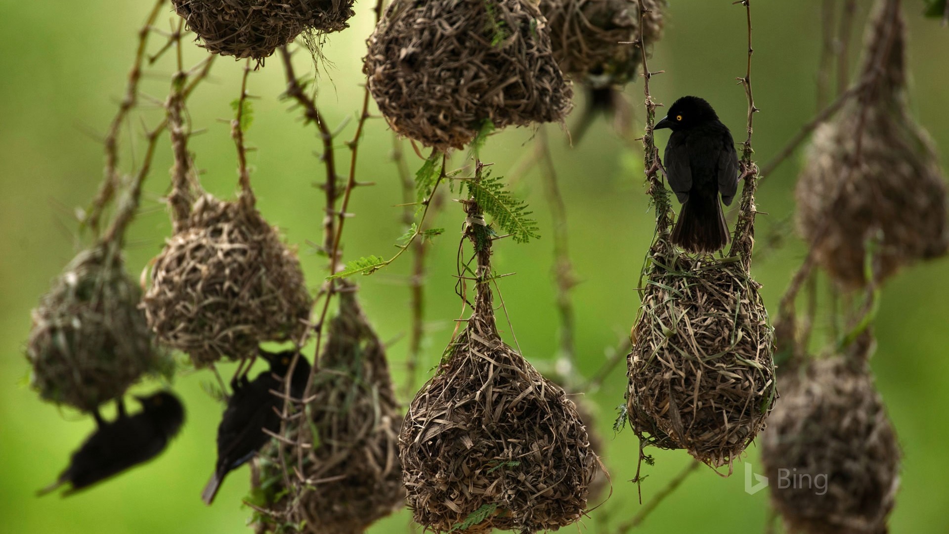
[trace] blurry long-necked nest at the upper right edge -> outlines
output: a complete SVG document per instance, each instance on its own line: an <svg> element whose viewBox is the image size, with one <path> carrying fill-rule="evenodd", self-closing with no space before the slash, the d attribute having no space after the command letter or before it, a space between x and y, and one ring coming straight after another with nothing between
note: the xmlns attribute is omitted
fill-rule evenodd
<svg viewBox="0 0 949 534"><path fill-rule="evenodd" d="M797 182L800 232L830 276L848 288L865 283L865 241L877 231L883 233L881 278L949 247L936 152L906 104L905 39L898 3L878 2L862 70L864 80L875 82L817 129ZM883 71L874 78L878 65Z"/></svg>

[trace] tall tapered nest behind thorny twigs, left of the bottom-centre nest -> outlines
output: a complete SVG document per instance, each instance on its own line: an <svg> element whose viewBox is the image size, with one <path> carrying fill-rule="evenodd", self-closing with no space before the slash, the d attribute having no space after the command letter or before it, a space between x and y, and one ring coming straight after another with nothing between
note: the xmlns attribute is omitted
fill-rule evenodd
<svg viewBox="0 0 949 534"><path fill-rule="evenodd" d="M311 391L307 431L301 436L291 421L285 434L291 443L303 444L307 483L292 487L285 496L280 451L275 446L264 450L258 487L264 491L266 513L259 516L259 534L362 533L399 508L405 497L399 465L400 406L384 346L352 286L344 286L340 314L329 323ZM288 465L295 467L298 449L281 447ZM280 529L282 524L306 526Z"/></svg>

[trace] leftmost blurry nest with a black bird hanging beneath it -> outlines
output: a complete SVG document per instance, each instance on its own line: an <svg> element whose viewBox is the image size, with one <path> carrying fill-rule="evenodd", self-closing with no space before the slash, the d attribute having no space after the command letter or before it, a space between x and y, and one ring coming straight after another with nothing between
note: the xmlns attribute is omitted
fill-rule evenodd
<svg viewBox="0 0 949 534"><path fill-rule="evenodd" d="M166 369L140 298L117 250L100 245L75 257L33 310L27 355L40 396L92 411L143 373Z"/></svg>

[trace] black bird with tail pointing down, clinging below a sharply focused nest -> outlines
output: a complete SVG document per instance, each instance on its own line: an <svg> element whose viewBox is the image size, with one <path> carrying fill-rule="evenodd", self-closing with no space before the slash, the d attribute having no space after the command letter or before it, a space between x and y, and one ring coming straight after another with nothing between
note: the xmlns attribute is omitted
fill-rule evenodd
<svg viewBox="0 0 949 534"><path fill-rule="evenodd" d="M231 382L233 395L217 427L217 464L208 486L201 493L206 505L214 502L224 477L247 463L270 440L270 435L263 429L272 432L280 430L277 410L283 407L284 401L270 391L284 391L284 378L294 353L268 353L261 350L260 355L270 363L270 371L261 372L253 381L249 381L245 374L240 378L234 377ZM307 358L301 354L290 378L290 396L303 396L309 369Z"/></svg>

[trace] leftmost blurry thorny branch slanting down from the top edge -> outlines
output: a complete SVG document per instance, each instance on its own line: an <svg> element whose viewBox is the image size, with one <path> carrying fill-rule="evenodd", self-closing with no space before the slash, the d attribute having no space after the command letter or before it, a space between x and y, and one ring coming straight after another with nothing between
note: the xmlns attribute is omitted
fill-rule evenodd
<svg viewBox="0 0 949 534"><path fill-rule="evenodd" d="M148 13L145 24L139 29L139 45L136 48L135 60L132 68L128 72L128 82L125 86L125 95L122 97L119 105L119 111L112 124L109 125L108 133L105 135L103 144L105 145L105 168L103 171L102 185L92 201L92 207L86 215L83 226L92 229L93 234L99 233L99 223L102 219L102 210L115 196L116 189L119 186L119 134L121 125L132 109L139 103L139 82L141 80L141 67L145 60L145 51L148 48L148 37L152 33L152 27L158 19L158 13L165 0L158 0L155 6ZM151 61L155 61L154 59Z"/></svg>

